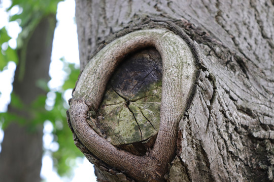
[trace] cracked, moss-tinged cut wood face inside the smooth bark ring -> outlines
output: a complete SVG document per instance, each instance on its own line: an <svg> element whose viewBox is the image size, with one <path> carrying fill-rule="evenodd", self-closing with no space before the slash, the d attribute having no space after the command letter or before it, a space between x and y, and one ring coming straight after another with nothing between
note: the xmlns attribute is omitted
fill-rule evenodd
<svg viewBox="0 0 274 182"><path fill-rule="evenodd" d="M90 120L93 128L118 148L146 154L159 129L161 86L162 60L155 48L128 55L108 83L97 119Z"/></svg>

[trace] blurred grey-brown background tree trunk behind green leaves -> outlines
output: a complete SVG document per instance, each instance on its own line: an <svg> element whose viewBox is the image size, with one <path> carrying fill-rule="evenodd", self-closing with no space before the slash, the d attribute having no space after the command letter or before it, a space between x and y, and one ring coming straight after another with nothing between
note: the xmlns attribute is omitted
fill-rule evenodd
<svg viewBox="0 0 274 182"><path fill-rule="evenodd" d="M9 106L8 112L23 119L24 123L13 121L5 129L0 154L0 178L3 182L41 181L44 121L33 121L35 112L31 104L46 94L37 84L39 80L47 82L49 79L55 23L55 15L42 19L19 50L13 93L21 100L23 108Z"/></svg>

